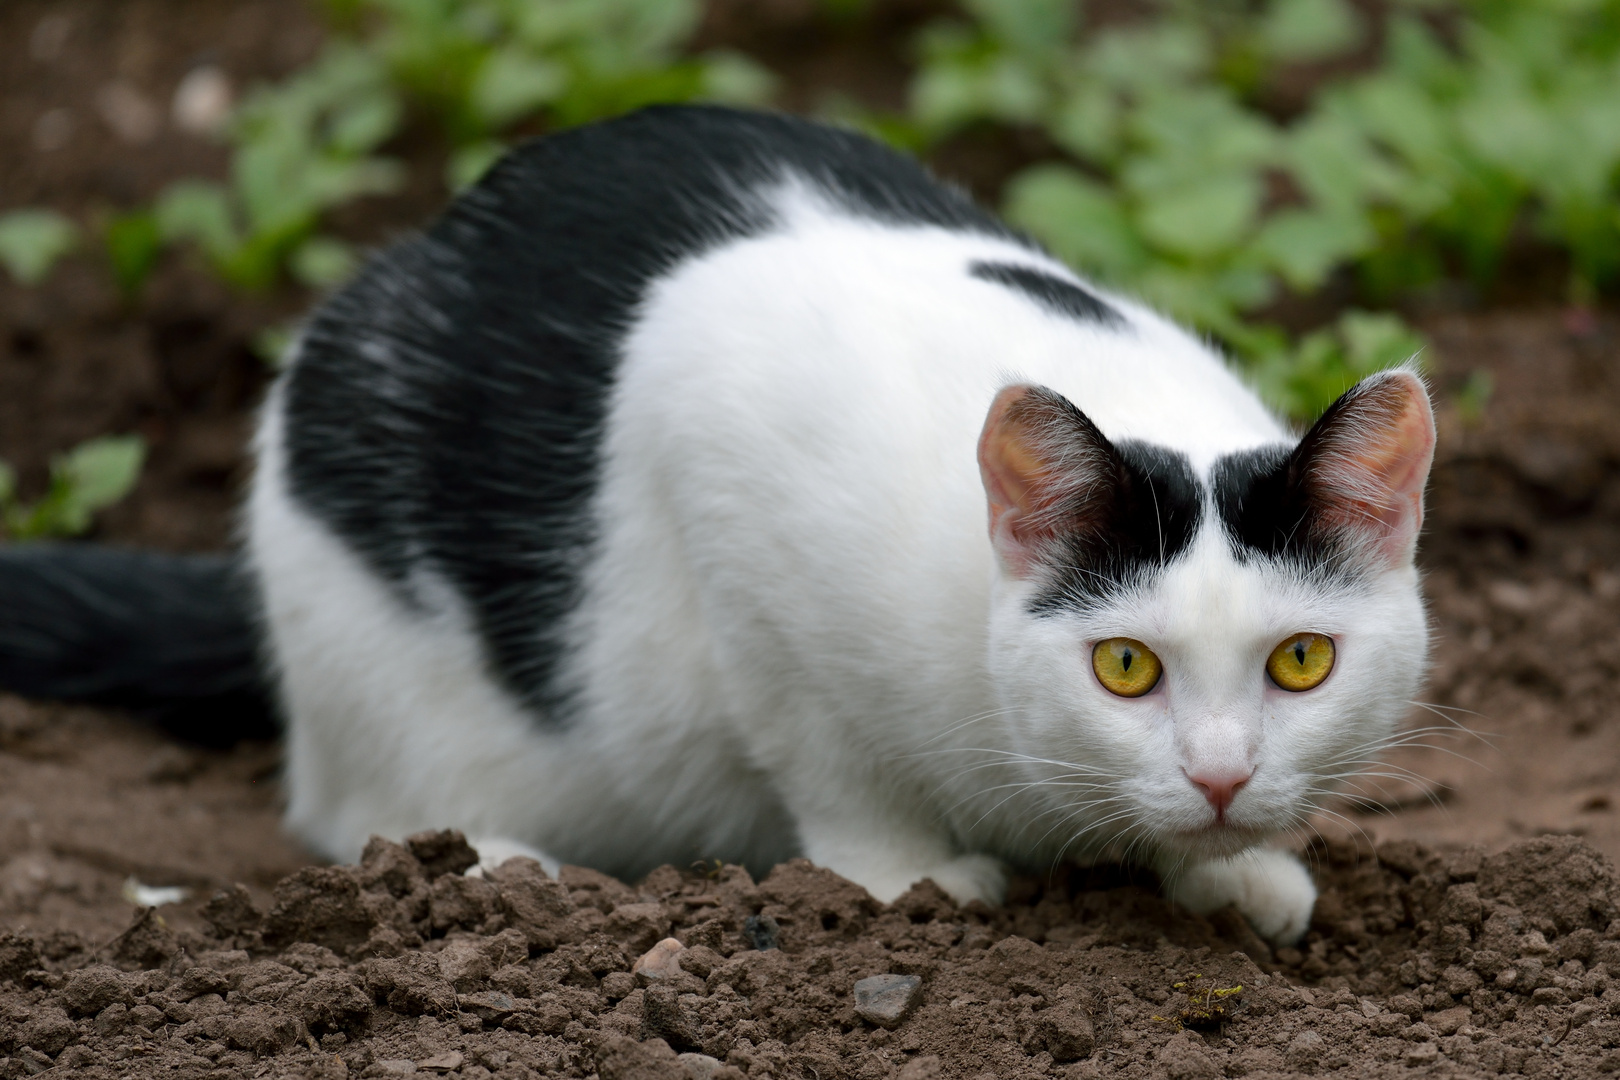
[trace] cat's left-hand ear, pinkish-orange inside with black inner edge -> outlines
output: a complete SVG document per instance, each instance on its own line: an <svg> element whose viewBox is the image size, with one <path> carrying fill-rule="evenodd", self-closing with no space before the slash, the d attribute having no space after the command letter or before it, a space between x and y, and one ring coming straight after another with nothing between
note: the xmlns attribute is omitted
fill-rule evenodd
<svg viewBox="0 0 1620 1080"><path fill-rule="evenodd" d="M1059 534L1084 528L1119 470L1113 444L1061 393L1035 385L996 393L978 436L978 474L1001 565L1025 576Z"/></svg>

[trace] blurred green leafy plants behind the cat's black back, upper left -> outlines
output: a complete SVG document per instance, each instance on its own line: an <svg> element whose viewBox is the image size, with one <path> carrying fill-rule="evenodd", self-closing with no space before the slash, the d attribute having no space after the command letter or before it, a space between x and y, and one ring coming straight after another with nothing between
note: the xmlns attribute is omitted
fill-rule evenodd
<svg viewBox="0 0 1620 1080"><path fill-rule="evenodd" d="M770 76L735 53L684 55L697 0L330 0L335 34L285 81L259 87L227 130L227 183L185 180L113 219L107 253L139 290L167 244L198 249L243 290L285 272L326 288L356 266L322 215L403 186L381 154L411 108L450 141L446 178L473 183L523 126L559 128L650 102L760 102Z"/></svg>

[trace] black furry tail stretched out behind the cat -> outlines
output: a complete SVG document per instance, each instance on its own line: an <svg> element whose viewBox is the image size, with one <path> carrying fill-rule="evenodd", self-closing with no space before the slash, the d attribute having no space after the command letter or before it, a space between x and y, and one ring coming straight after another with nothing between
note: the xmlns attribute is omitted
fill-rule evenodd
<svg viewBox="0 0 1620 1080"><path fill-rule="evenodd" d="M0 547L0 690L120 706L206 745L269 737L253 612L228 555Z"/></svg>

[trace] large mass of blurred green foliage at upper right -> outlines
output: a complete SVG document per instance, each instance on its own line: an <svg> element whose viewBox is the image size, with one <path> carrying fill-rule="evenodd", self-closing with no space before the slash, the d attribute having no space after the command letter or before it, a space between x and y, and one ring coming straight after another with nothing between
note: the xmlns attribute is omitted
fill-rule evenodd
<svg viewBox="0 0 1620 1080"><path fill-rule="evenodd" d="M1290 340L1254 319L1286 293L1487 285L1526 232L1567 254L1571 303L1620 277L1615 0L1396 2L1371 70L1319 79L1288 121L1270 76L1369 40L1348 0L1183 0L1095 29L1068 0L962 10L922 37L902 141L1037 130L1055 160L1011 180L1009 220L1226 342L1290 415L1419 338L1348 311Z"/></svg>

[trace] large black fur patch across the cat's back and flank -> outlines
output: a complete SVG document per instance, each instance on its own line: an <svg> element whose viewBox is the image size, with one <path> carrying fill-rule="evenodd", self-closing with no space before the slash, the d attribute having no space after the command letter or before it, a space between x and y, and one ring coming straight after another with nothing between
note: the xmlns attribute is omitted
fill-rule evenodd
<svg viewBox="0 0 1620 1080"><path fill-rule="evenodd" d="M619 343L648 285L765 233L792 173L852 212L1019 240L915 162L770 113L648 108L530 142L309 324L284 384L292 495L400 596L449 581L551 719ZM1024 241L1019 241L1024 243Z"/></svg>

